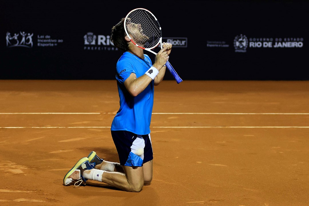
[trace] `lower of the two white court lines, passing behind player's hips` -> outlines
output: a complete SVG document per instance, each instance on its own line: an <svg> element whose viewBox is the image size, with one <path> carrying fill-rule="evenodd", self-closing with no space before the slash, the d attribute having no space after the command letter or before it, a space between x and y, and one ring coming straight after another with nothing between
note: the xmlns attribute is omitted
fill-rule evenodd
<svg viewBox="0 0 309 206"><path fill-rule="evenodd" d="M0 129L23 128L111 128L111 127L0 127ZM150 127L150 128L309 128L309 126L201 126L201 127Z"/></svg>

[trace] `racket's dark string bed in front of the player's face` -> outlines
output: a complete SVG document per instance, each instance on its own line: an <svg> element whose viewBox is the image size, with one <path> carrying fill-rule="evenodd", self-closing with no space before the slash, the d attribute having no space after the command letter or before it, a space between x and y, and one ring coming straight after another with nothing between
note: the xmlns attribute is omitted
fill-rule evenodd
<svg viewBox="0 0 309 206"><path fill-rule="evenodd" d="M155 48L161 38L161 27L158 20L148 11L145 10L135 10L131 12L128 16L129 23L140 24L142 32L136 32L132 30L129 32L133 38L132 40L144 47L144 48Z"/></svg>

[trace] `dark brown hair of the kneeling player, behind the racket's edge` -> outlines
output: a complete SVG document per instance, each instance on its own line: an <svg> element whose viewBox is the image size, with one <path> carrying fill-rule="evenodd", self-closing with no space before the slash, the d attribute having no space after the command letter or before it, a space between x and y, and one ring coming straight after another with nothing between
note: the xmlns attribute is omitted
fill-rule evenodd
<svg viewBox="0 0 309 206"><path fill-rule="evenodd" d="M111 41L112 43L121 51L129 51L129 44L125 40L125 28L124 28L125 18L122 18L119 23L112 27Z"/></svg>

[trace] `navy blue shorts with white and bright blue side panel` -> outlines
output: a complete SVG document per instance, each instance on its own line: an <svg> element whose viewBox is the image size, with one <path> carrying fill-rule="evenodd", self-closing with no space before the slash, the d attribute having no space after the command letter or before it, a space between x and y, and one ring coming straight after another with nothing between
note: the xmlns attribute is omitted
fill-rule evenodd
<svg viewBox="0 0 309 206"><path fill-rule="evenodd" d="M111 131L120 164L143 166L153 159L150 134L137 135L128 131Z"/></svg>

